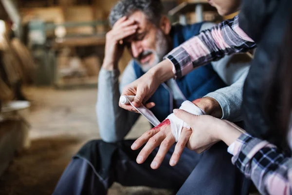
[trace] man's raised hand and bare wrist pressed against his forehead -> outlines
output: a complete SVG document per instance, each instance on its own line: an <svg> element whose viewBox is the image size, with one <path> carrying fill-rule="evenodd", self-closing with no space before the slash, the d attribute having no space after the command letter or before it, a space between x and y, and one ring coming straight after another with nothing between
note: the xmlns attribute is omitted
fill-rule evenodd
<svg viewBox="0 0 292 195"><path fill-rule="evenodd" d="M112 29L106 35L105 58L103 68L107 70L116 69L118 61L122 57L124 45L120 44L123 39L133 35L138 25L134 20L128 20L126 16L116 21Z"/></svg>

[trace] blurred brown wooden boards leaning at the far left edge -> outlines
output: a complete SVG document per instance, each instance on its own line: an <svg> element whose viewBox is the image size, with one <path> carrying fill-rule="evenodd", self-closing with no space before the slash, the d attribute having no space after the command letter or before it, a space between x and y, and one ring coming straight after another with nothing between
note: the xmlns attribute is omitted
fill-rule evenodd
<svg viewBox="0 0 292 195"><path fill-rule="evenodd" d="M3 103L19 99L20 83L32 83L35 63L19 39L9 39L7 34L0 38L0 101Z"/></svg>

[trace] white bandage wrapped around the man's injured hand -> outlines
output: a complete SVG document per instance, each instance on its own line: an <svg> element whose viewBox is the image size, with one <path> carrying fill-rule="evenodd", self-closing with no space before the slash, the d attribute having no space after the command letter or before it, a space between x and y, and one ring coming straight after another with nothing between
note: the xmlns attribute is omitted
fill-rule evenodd
<svg viewBox="0 0 292 195"><path fill-rule="evenodd" d="M184 110L190 114L193 115L205 115L205 111L203 111L201 108L196 106L194 103L190 101L184 101L180 107L181 110ZM174 114L170 114L166 119L169 119L170 126L171 126L171 132L173 134L173 137L175 138L175 141L178 142L183 127L191 128L188 124L186 124L182 119L176 117Z"/></svg>

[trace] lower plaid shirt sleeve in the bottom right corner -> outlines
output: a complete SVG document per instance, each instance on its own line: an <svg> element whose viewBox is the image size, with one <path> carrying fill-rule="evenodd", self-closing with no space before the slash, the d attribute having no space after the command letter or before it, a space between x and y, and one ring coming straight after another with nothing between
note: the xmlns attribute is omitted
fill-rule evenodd
<svg viewBox="0 0 292 195"><path fill-rule="evenodd" d="M233 145L232 162L264 195L292 194L292 158L273 144L242 134Z"/></svg>

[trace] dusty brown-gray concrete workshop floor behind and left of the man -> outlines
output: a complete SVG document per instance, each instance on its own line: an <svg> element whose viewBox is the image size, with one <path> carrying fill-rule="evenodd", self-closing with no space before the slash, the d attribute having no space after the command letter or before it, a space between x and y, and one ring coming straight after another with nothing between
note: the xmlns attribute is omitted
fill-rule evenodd
<svg viewBox="0 0 292 195"><path fill-rule="evenodd" d="M0 178L0 195L50 195L71 156L88 140L99 138L95 117L96 89L27 88L32 101L28 120L32 145L13 160ZM127 138L149 129L140 118ZM114 184L109 195L169 195L145 187Z"/></svg>

